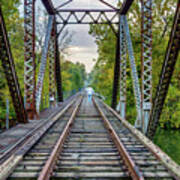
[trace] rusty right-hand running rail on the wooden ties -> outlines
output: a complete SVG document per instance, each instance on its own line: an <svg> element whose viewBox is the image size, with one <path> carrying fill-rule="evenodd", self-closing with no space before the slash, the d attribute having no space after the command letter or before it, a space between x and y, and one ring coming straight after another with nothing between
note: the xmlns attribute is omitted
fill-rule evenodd
<svg viewBox="0 0 180 180"><path fill-rule="evenodd" d="M99 111L99 113L100 113L100 115L101 115L101 117L102 117L102 119L104 121L104 124L105 124L106 128L108 129L108 131L109 131L109 133L110 133L110 135L112 137L112 140L116 144L116 147L117 147L117 149L119 151L119 154L122 156L122 158L124 160L124 163L128 168L130 176L132 177L133 180L144 180L142 172L139 170L138 166L136 166L135 162L133 161L133 159L129 155L129 153L126 150L126 148L124 147L122 141L118 137L118 135L115 132L114 128L112 127L109 120L107 119L107 117L105 116L105 114L103 113L103 111L99 107L99 105L96 103L94 98L93 98L93 103L96 106L97 110Z"/></svg>

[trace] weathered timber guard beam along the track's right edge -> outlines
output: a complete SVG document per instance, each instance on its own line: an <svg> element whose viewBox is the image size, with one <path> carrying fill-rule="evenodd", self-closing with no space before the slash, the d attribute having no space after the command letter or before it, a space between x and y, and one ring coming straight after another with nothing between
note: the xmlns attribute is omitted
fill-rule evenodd
<svg viewBox="0 0 180 180"><path fill-rule="evenodd" d="M177 165L166 153L164 153L158 146L156 146L150 139L148 139L143 133L132 126L128 121L122 118L114 109L105 104L102 100L99 100L107 110L109 110L121 123L147 148L155 155L155 157L170 171L172 176L176 179L180 179L180 166Z"/></svg>

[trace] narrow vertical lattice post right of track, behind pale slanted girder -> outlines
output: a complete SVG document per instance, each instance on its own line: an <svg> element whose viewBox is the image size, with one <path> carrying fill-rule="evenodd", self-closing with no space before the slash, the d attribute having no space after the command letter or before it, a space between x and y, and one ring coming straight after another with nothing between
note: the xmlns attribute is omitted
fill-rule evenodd
<svg viewBox="0 0 180 180"><path fill-rule="evenodd" d="M126 63L127 63L127 48L126 38L123 28L123 17L120 17L120 115L126 117Z"/></svg>

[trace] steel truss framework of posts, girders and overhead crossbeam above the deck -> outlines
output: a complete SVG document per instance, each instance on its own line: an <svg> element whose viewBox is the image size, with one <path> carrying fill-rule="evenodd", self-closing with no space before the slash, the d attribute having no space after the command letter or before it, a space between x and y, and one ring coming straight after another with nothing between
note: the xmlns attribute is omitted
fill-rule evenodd
<svg viewBox="0 0 180 180"><path fill-rule="evenodd" d="M65 5L72 2L67 1L61 6L54 8L51 0L42 0L48 14L49 25L47 27L46 40L43 47L41 57L40 72L38 74L36 85L36 63L35 63L35 0L24 0L25 5L25 107L22 100L22 95L18 83L18 78L15 73L15 66L10 52L9 43L5 43L6 52L4 57L8 61L4 61L4 69L8 86L13 99L14 108L19 122L27 122L27 114L29 119L33 119L36 113L39 112L41 103L41 93L43 87L44 74L46 69L47 57L49 56L49 96L52 104L55 103L55 84L56 80L58 101L63 101L62 80L60 56L58 47L58 38L67 24L108 24L117 37L116 59L114 65L114 82L112 93L112 107L115 109L117 105L118 88L120 86L120 100L119 112L123 118L126 117L126 66L127 66L127 52L131 65L131 73L133 79L134 96L136 100L137 120L136 127L140 128L144 133L147 133L151 138L153 137L157 128L158 121L162 112L162 108L167 95L170 80L173 74L175 63L177 61L179 52L179 4L178 0L174 24L172 27L171 37L167 48L159 85L157 88L156 97L152 106L152 0L141 0L141 79L142 86L140 89L135 57L133 54L133 46L129 32L126 14L131 7L133 0L125 0L120 9L115 8L104 0L99 0L103 4L110 7L110 9L62 9ZM63 13L69 13L66 19L63 18ZM79 18L77 13L81 13ZM99 13L96 18L93 13ZM109 18L107 13L114 13L112 18ZM70 21L74 17L74 22ZM86 21L86 17L90 21ZM57 19L59 17L59 19ZM102 17L104 18L102 20ZM117 17L117 19L116 19ZM118 27L114 27L114 25ZM58 31L58 25L62 25ZM2 13L1 13L1 27L5 27ZM3 27L3 28L4 28ZM1 37L6 39L8 37L6 31ZM1 40L3 40L1 38ZM4 49L4 50L5 50ZM2 50L2 48L1 48ZM9 66L6 65L9 63ZM170 70L171 69L171 70ZM120 81L119 81L120 79ZM17 99L17 101L15 100ZM150 121L149 121L150 120Z"/></svg>

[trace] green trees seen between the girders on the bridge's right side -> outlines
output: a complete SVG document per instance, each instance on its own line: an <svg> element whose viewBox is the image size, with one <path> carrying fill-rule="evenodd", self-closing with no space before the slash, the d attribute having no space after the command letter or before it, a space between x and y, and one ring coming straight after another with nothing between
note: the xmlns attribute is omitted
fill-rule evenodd
<svg viewBox="0 0 180 180"><path fill-rule="evenodd" d="M159 81L159 75L164 61L166 47L169 40L176 0L153 1L153 97ZM121 6L121 3L119 4ZM133 42L134 55L140 78L141 73L141 6L136 0L128 13L128 21ZM116 27L117 29L117 27ZM91 84L97 92L106 97L110 104L113 84L113 69L115 62L116 38L107 25L91 25L89 33L95 37L99 57L90 75ZM180 57L179 57L180 59ZM171 81L166 104L161 116L161 127L180 128L180 60ZM132 78L128 62L127 68L127 119L134 123L136 117L135 99L132 90Z"/></svg>

